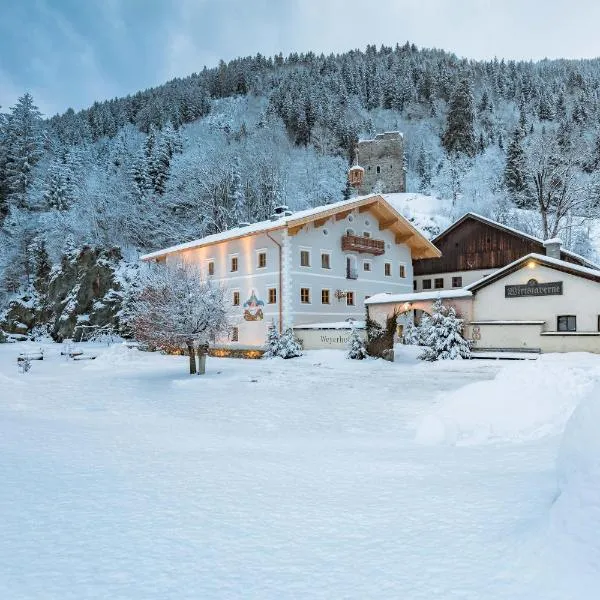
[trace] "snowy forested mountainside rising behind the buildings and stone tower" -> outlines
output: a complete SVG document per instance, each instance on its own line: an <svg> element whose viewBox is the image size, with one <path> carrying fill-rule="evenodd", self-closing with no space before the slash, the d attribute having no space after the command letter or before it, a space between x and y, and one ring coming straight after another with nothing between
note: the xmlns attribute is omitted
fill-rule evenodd
<svg viewBox="0 0 600 600"><path fill-rule="evenodd" d="M28 94L4 110L8 293L65 244L135 259L276 204L341 199L356 141L389 129L405 135L409 191L592 252L600 60L467 61L408 43L257 55L78 113L44 118Z"/></svg>

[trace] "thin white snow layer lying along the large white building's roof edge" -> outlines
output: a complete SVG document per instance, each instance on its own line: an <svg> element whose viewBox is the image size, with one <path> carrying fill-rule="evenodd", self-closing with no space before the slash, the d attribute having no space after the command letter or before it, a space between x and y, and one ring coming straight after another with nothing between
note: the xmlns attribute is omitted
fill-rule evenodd
<svg viewBox="0 0 600 600"><path fill-rule="evenodd" d="M183 250L190 250L192 248L197 248L199 246L210 246L212 244L218 244L220 242L224 242L227 240L245 237L248 235L254 235L257 233L264 233L266 231L273 231L275 229L282 229L293 221L297 221L300 219L305 219L306 217L317 216L320 213L327 212L330 210L343 209L348 205L352 205L356 202L360 202L361 200L365 200L366 198L383 198L390 206L400 215L402 219L402 213L394 206L392 202L389 202L388 198L390 196L394 196L395 194L366 194L364 196L355 196L350 198L349 200L340 200L339 202L333 202L332 204L324 204L322 206L316 206L314 208L307 208L305 210L300 210L293 212L291 214L285 215L282 214L279 219L269 219L266 221L259 221L257 223L252 223L251 225L246 225L244 227L233 227L232 229L227 229L225 231L221 231L220 233L214 233L212 235L207 235L203 238L199 238L196 240L191 240L189 242L185 242L183 244L176 244L174 246L169 246L168 248L163 248L161 250L156 250L155 252L149 252L148 254L144 254L140 256L140 260L150 260L152 258L157 258L159 256L165 256L166 254L172 254L173 252L181 252ZM428 240L428 237L413 223L409 222L410 227L412 227L419 235L423 237L424 240Z"/></svg>

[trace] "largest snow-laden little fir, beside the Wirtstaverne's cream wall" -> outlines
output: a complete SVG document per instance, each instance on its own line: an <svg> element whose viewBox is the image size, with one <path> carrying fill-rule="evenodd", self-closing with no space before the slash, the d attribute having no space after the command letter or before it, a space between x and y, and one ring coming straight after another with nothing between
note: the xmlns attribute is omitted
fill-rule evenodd
<svg viewBox="0 0 600 600"><path fill-rule="evenodd" d="M433 303L431 315L420 325L420 335L425 350L421 360L454 360L469 358L471 344L462 336L463 320L456 316L454 307L448 308L441 299Z"/></svg>

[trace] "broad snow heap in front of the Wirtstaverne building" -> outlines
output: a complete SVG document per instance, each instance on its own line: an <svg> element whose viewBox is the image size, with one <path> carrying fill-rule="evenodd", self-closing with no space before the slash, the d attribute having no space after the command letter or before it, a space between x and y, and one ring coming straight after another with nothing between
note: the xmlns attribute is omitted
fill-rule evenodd
<svg viewBox="0 0 600 600"><path fill-rule="evenodd" d="M598 376L597 360L586 354L509 364L493 380L440 397L436 410L420 422L416 441L477 444L560 433Z"/></svg>

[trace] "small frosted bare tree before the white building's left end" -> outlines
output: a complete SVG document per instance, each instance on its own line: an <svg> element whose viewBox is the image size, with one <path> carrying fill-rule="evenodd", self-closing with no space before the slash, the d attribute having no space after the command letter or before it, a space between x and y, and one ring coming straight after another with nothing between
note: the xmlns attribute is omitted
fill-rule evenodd
<svg viewBox="0 0 600 600"><path fill-rule="evenodd" d="M127 310L134 337L158 348L187 351L190 374L200 374L208 345L228 333L225 289L206 280L193 265L151 265Z"/></svg>

